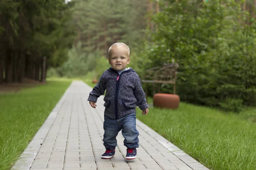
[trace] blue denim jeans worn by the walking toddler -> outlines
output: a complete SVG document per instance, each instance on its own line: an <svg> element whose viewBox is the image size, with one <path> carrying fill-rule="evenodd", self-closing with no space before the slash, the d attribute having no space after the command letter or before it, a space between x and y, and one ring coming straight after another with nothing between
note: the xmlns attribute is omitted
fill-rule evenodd
<svg viewBox="0 0 256 170"><path fill-rule="evenodd" d="M122 130L124 145L127 148L139 147L139 132L136 129L136 113L129 114L118 120L104 116L103 128L105 130L103 142L106 149L114 150L117 146L116 136Z"/></svg>

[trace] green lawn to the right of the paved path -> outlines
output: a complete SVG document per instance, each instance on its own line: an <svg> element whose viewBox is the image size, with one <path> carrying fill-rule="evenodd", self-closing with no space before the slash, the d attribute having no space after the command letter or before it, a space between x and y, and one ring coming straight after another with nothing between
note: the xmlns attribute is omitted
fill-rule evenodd
<svg viewBox="0 0 256 170"><path fill-rule="evenodd" d="M256 170L256 124L243 113L224 114L183 102L177 110L150 108L143 116L137 108L137 113L137 119L209 169Z"/></svg>

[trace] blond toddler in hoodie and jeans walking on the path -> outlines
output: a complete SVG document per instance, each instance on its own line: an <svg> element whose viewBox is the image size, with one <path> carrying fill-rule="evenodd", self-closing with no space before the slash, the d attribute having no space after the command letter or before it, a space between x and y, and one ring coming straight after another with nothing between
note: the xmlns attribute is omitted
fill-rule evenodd
<svg viewBox="0 0 256 170"><path fill-rule="evenodd" d="M96 108L98 97L106 90L103 124L106 151L101 158L111 159L115 155L116 136L122 130L124 145L127 147L125 158L135 159L136 148L139 147L135 108L139 106L143 115L148 113L145 93L138 74L132 68L126 68L130 62L130 49L125 43L111 45L108 49L108 61L111 68L101 75L88 98L91 107Z"/></svg>

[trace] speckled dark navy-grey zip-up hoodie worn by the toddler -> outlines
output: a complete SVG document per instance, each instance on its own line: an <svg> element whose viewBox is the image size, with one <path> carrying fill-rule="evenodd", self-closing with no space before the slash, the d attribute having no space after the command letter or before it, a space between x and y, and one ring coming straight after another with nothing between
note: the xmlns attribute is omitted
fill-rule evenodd
<svg viewBox="0 0 256 170"><path fill-rule="evenodd" d="M136 113L137 106L143 111L148 108L140 77L132 68L120 75L113 68L105 71L90 92L88 101L97 102L106 89L104 114L111 119L120 119Z"/></svg>

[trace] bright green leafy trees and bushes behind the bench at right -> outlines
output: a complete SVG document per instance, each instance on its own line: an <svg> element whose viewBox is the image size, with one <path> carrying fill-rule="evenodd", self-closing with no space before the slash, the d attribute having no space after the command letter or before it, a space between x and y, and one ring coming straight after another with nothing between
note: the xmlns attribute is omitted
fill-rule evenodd
<svg viewBox="0 0 256 170"><path fill-rule="evenodd" d="M232 111L255 106L256 29L253 21L242 24L242 15L230 0L172 2L153 18L158 29L148 31L143 67L179 60L176 87L183 101ZM162 86L172 92L172 85Z"/></svg>

